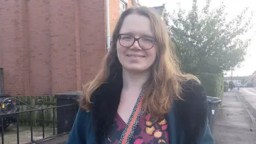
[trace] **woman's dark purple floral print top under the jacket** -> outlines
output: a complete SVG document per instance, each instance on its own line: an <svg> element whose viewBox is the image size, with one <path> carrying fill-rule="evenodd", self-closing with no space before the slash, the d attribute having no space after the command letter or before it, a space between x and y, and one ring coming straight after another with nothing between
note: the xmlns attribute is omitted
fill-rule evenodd
<svg viewBox="0 0 256 144"><path fill-rule="evenodd" d="M143 114L140 117L139 123L134 130L130 143L169 143L169 132L166 119L158 120L155 123L151 122L150 119L150 115ZM113 130L108 135L108 143L117 144L125 126L126 123L117 114L113 124Z"/></svg>

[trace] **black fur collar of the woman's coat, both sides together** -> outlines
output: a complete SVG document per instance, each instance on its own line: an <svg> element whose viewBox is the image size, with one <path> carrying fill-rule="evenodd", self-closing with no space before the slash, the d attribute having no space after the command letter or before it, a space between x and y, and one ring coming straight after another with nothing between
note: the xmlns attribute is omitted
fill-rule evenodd
<svg viewBox="0 0 256 144"><path fill-rule="evenodd" d="M103 83L92 95L90 113L97 143L105 139L111 131L111 125L114 123L119 106L122 87L122 70L119 70L115 75L110 76L107 82ZM177 129L172 129L177 137L180 137L179 132L183 132L189 143L197 143L207 118L206 94L202 85L194 81L188 81L182 87L185 101L174 101L175 110L167 114L166 118L167 121L177 122ZM176 119L173 119L173 114ZM169 124L171 125L171 123Z"/></svg>

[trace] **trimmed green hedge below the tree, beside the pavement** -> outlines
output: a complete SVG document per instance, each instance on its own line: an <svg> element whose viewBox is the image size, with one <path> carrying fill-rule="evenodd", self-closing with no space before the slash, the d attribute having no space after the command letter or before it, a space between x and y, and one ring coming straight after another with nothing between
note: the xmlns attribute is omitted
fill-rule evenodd
<svg viewBox="0 0 256 144"><path fill-rule="evenodd" d="M194 75L200 79L208 96L222 98L224 91L222 74L196 73Z"/></svg>

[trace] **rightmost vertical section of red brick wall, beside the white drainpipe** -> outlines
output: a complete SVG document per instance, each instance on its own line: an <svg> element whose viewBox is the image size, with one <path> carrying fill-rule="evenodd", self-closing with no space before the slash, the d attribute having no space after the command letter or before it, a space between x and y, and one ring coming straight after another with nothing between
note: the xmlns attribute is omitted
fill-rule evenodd
<svg viewBox="0 0 256 144"><path fill-rule="evenodd" d="M81 81L92 80L107 53L105 0L80 1Z"/></svg>

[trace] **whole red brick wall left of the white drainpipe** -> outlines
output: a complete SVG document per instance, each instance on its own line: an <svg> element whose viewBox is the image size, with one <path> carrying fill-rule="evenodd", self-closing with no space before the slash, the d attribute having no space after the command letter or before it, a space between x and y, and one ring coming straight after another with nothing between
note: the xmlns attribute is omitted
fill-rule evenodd
<svg viewBox="0 0 256 144"><path fill-rule="evenodd" d="M0 1L4 92L81 90L106 54L104 0Z"/></svg>

